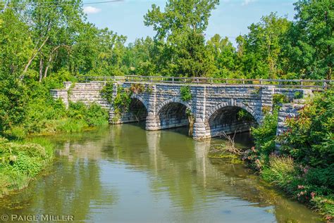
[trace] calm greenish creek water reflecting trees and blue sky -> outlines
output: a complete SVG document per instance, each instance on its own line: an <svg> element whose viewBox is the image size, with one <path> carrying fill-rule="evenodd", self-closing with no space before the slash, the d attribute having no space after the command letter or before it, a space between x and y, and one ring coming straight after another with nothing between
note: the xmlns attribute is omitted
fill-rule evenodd
<svg viewBox="0 0 334 223"><path fill-rule="evenodd" d="M54 165L0 200L0 215L71 215L75 222L321 222L242 164L208 158L223 139L194 141L187 129L147 132L113 125L44 137ZM249 134L236 137L250 147ZM0 221L1 222L1 221Z"/></svg>

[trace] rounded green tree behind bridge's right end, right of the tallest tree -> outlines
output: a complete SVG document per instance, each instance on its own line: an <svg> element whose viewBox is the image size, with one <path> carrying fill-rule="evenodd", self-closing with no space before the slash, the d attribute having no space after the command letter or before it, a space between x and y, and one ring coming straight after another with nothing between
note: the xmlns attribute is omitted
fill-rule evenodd
<svg viewBox="0 0 334 223"><path fill-rule="evenodd" d="M247 77L276 78L281 75L280 53L289 27L287 18L271 13L262 17L260 23L250 25L249 34L243 39L237 39L241 69Z"/></svg>

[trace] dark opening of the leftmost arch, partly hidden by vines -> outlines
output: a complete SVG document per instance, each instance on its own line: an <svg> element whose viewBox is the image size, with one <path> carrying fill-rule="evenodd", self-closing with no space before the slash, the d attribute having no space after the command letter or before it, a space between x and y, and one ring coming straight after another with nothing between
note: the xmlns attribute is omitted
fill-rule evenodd
<svg viewBox="0 0 334 223"><path fill-rule="evenodd" d="M147 117L147 108L138 98L131 98L128 111L122 115L123 123L145 122Z"/></svg>

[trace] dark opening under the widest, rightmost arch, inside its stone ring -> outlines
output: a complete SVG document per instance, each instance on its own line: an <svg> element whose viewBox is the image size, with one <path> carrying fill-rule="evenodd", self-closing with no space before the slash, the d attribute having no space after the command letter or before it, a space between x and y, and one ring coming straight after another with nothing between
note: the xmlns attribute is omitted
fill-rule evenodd
<svg viewBox="0 0 334 223"><path fill-rule="evenodd" d="M210 117L207 123L211 137L225 134L249 132L257 124L254 116L247 110L237 106L219 108Z"/></svg>

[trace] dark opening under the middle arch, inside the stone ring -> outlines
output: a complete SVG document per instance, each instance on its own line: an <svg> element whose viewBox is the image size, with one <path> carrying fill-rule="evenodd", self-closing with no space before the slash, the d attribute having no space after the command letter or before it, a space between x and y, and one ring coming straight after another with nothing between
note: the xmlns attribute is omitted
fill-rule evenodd
<svg viewBox="0 0 334 223"><path fill-rule="evenodd" d="M188 134L192 135L193 118L190 108L180 102L170 102L158 112L159 129L189 127Z"/></svg>

